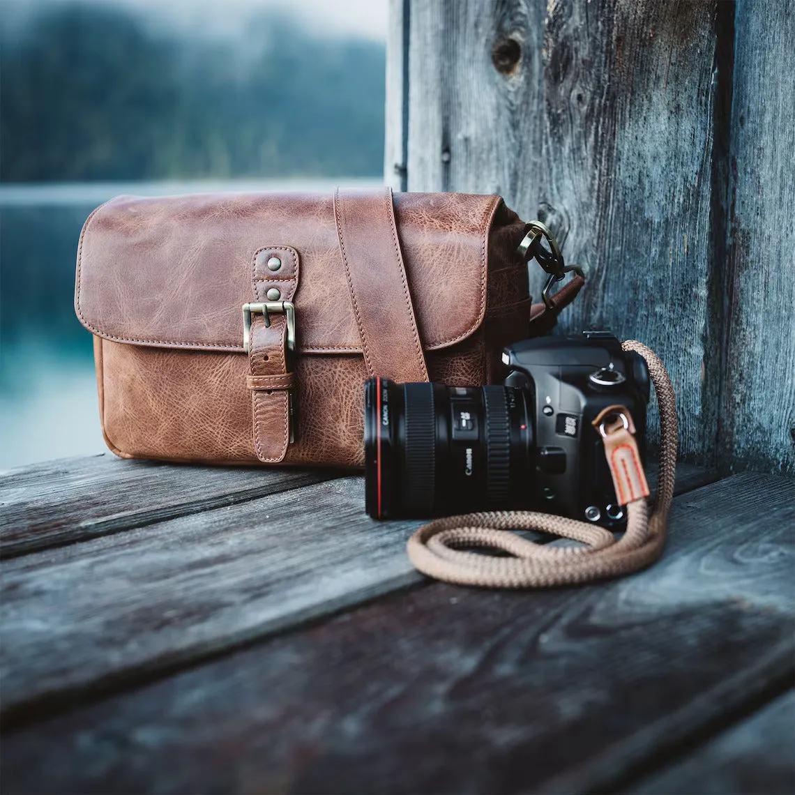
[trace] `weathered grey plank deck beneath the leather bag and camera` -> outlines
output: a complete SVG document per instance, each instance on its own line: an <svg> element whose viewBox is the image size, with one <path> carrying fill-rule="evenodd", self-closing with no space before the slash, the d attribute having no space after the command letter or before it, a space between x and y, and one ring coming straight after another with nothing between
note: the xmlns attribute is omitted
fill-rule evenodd
<svg viewBox="0 0 795 795"><path fill-rule="evenodd" d="M3 793L792 793L793 483L680 467L663 560L429 583L358 475L0 476Z"/></svg>

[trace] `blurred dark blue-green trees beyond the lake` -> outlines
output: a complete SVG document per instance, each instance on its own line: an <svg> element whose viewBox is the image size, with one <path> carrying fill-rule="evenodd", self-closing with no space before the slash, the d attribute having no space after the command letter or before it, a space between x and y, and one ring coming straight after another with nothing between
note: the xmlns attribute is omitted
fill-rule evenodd
<svg viewBox="0 0 795 795"><path fill-rule="evenodd" d="M384 68L273 11L231 41L49 6L0 32L0 180L379 176Z"/></svg>

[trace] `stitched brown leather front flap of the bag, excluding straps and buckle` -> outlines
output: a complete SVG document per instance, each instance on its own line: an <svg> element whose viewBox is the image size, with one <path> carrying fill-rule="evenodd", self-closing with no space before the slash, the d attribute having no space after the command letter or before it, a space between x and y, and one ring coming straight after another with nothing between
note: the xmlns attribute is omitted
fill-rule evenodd
<svg viewBox="0 0 795 795"><path fill-rule="evenodd" d="M498 196L394 196L426 350L466 339L483 321L487 239L498 204ZM119 196L83 227L77 315L89 331L117 342L243 351L241 307L255 300L253 258L277 246L300 258L298 350L361 352L332 196Z"/></svg>

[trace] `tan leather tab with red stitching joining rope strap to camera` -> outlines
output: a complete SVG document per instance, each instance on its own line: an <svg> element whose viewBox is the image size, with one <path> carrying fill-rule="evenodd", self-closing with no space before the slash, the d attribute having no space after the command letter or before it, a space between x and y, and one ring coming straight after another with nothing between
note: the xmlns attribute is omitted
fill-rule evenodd
<svg viewBox="0 0 795 795"><path fill-rule="evenodd" d="M592 425L602 436L604 454L619 504L626 505L648 497L649 484L635 442L635 424L626 407L608 406L599 413Z"/></svg>

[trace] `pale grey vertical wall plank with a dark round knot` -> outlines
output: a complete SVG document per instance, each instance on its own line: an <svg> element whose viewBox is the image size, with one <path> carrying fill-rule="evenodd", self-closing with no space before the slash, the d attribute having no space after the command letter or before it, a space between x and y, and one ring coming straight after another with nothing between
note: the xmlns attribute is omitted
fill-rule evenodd
<svg viewBox="0 0 795 795"><path fill-rule="evenodd" d="M544 17L539 0L413 0L409 190L496 192L534 214L544 161Z"/></svg>

